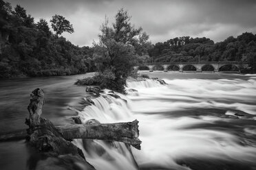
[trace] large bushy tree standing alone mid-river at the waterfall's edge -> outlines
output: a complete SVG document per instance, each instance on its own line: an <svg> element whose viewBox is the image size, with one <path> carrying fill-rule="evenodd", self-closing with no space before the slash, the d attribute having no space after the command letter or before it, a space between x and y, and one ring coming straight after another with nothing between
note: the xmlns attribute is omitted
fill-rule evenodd
<svg viewBox="0 0 256 170"><path fill-rule="evenodd" d="M94 44L94 62L100 75L113 73L114 79L107 79L101 86L124 92L127 77L134 75L134 66L142 62L151 48L149 36L131 25L131 16L120 9L115 16L115 23L109 26L108 20L100 27L99 42ZM104 82L104 81L103 81Z"/></svg>

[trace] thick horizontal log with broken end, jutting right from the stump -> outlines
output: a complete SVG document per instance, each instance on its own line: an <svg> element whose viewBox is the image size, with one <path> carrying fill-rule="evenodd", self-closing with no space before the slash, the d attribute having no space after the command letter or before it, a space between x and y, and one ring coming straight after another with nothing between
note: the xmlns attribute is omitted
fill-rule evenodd
<svg viewBox="0 0 256 170"><path fill-rule="evenodd" d="M138 121L127 123L93 123L89 125L65 125L56 127L63 138L91 138L119 141L140 149Z"/></svg>

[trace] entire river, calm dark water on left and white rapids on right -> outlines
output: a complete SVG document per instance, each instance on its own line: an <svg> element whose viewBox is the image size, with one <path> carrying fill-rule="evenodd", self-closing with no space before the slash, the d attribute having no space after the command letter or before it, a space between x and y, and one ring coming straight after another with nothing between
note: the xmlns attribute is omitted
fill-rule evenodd
<svg viewBox="0 0 256 170"><path fill-rule="evenodd" d="M101 123L138 119L142 149L131 151L140 169L256 169L256 75L145 72L162 78L128 82L138 92L93 99L78 116ZM55 124L76 115L85 88L76 79L92 76L23 78L0 82L0 134L25 129L29 95L45 91L43 116ZM105 90L106 92L108 90ZM74 140L96 169L137 169L122 143ZM0 169L27 169L25 141L0 143Z"/></svg>

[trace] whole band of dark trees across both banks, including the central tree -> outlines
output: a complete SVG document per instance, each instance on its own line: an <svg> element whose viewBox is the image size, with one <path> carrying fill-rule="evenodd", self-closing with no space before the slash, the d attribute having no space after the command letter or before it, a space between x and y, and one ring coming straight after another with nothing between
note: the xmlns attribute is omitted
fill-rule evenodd
<svg viewBox="0 0 256 170"><path fill-rule="evenodd" d="M239 61L246 66L244 73L256 73L256 35L252 33L246 32L237 38L230 36L216 43L209 38L183 36L152 45L141 27L134 29L131 25L122 25L122 21L129 21L131 17L125 11L119 13L113 28L102 25L107 31L101 30L101 44L78 47L61 36L63 32L74 32L70 21L63 16L52 16L50 29L45 19L35 23L20 5L12 8L10 3L0 0L0 78L73 75L96 71L96 68L101 72L110 69L117 77L127 77L132 66L143 65L143 62ZM118 24L134 30L119 32ZM133 36L127 36L129 33ZM106 51L103 47L107 46L113 49ZM116 63L116 59L111 58L116 58L116 51L120 49L125 49L125 55L131 57L118 57ZM105 52L111 60L102 57ZM124 62L131 58L134 62ZM127 69L125 73L120 73L122 67Z"/></svg>

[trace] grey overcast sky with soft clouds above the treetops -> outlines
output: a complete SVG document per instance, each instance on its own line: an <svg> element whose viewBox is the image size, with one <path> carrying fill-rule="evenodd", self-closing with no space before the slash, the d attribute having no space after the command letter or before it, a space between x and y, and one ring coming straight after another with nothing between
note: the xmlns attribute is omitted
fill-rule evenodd
<svg viewBox="0 0 256 170"><path fill-rule="evenodd" d="M256 0L6 0L19 4L35 21L54 14L73 24L73 34L63 34L74 45L91 46L99 27L114 21L120 8L128 10L131 23L142 27L153 43L177 36L207 37L215 42L243 32L256 34Z"/></svg>

